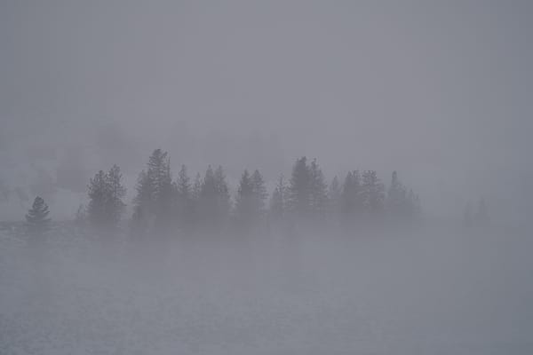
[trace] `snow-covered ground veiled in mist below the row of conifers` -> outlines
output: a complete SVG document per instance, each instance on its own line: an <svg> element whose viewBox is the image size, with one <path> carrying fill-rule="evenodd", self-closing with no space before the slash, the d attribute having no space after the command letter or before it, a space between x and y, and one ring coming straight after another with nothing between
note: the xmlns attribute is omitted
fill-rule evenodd
<svg viewBox="0 0 533 355"><path fill-rule="evenodd" d="M531 354L533 238L271 237L102 256L0 232L0 354Z"/></svg>

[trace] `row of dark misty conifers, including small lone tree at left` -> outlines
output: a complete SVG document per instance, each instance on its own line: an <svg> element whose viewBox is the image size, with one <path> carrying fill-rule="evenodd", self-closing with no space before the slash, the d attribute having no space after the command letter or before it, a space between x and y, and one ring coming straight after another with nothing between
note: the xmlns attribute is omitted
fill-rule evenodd
<svg viewBox="0 0 533 355"><path fill-rule="evenodd" d="M76 221L100 235L115 233L126 210L125 196L117 165L98 171L89 180L88 203L78 209ZM27 217L34 234L39 225L44 230L49 222L44 201L36 203ZM333 177L328 184L316 159L304 156L294 162L289 179L278 177L271 193L259 170L243 170L231 196L221 166L210 165L203 175L192 178L181 165L174 178L170 156L161 149L155 149L139 173L131 205L128 226L133 240L176 233L252 233L298 225L412 221L421 213L418 195L402 184L395 171L388 189L374 170L348 171L342 181Z"/></svg>

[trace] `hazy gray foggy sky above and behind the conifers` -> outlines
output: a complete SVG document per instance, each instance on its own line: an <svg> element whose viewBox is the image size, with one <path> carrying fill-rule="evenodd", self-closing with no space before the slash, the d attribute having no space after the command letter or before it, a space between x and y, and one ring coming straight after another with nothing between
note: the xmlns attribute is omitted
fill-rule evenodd
<svg viewBox="0 0 533 355"><path fill-rule="evenodd" d="M392 170L431 212L530 212L530 1L0 3L0 220L114 162ZM0 192L1 192L0 191ZM25 197L26 195L26 197ZM16 196L16 197L15 197ZM533 199L533 197L531 197ZM514 201L513 201L514 200Z"/></svg>

